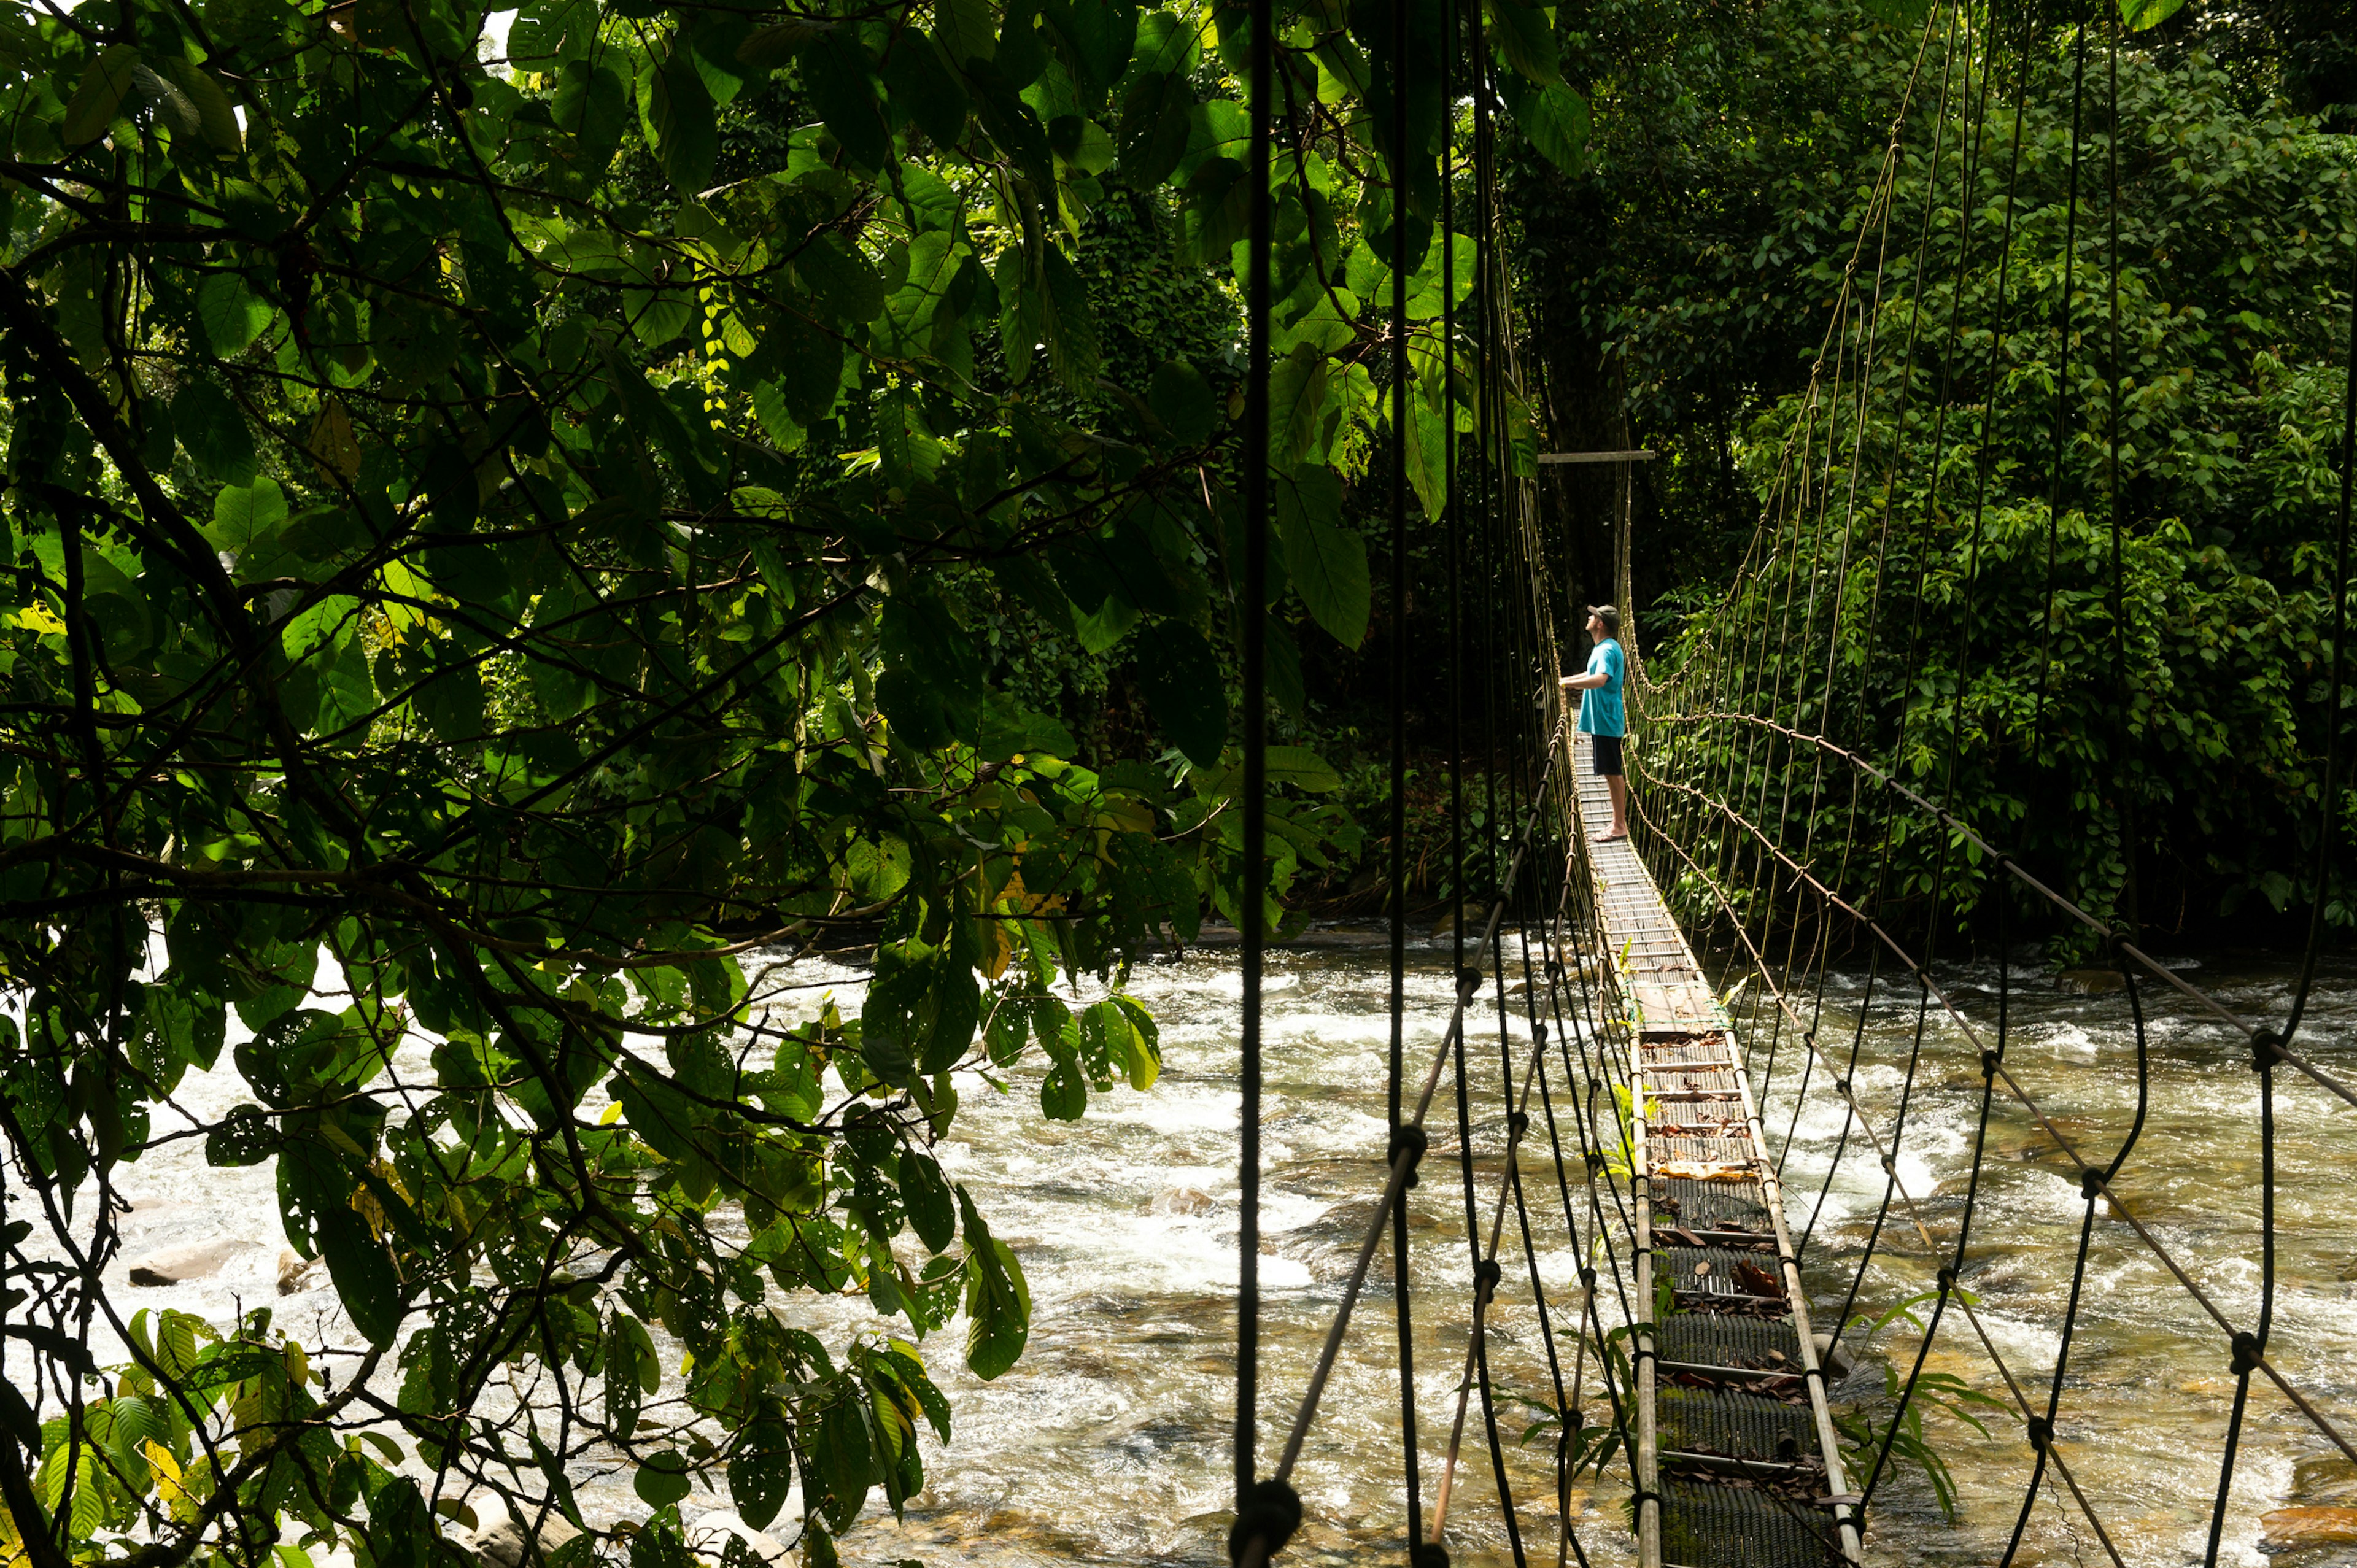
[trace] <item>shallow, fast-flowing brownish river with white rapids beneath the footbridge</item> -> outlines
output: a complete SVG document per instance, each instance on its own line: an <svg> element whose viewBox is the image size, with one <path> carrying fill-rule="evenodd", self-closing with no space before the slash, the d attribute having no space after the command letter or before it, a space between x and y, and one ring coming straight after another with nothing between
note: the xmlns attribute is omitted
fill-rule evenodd
<svg viewBox="0 0 2357 1568"><path fill-rule="evenodd" d="M2187 979L2253 1019L2279 1019L2289 964L2270 957L2183 960ZM1263 1455L1306 1384L1332 1320L1351 1257L1381 1184L1384 1061L1388 1045L1386 964L1379 946L1318 946L1270 955L1266 1186L1263 1186ZM1450 1004L1445 943L1409 955L1412 1059L1431 1059ZM856 969L804 962L790 976L816 995L832 986L851 1012ZM1956 964L1942 986L1968 1019L1996 1014L1994 962ZM2022 955L2013 969L2008 1061L2065 1137L2107 1155L2133 1115L2133 1042L2124 997L2062 995ZM959 1361L959 1332L936 1335L929 1365L955 1408L955 1438L926 1455L929 1488L905 1523L877 1514L844 1540L851 1563L919 1559L950 1563L1221 1563L1230 1488L1228 1422L1235 1375L1237 1238L1237 1000L1233 950L1195 950L1146 964L1131 993L1162 1021L1164 1075L1146 1094L1091 1096L1080 1122L1047 1122L1037 1075L1018 1070L1002 1099L981 1080L962 1085L962 1113L943 1162L964 1181L999 1238L1023 1257L1035 1323L1023 1361L997 1382L978 1382ZM1864 974L1834 974L1820 1035L1848 1049L1864 1002ZM1523 1000L1513 997L1520 1009ZM1497 1200L1504 1148L1499 1023L1492 993L1473 1033L1471 1125L1480 1205ZM1916 1030L1916 997L1879 986L1864 1009L1855 1075L1867 1108L1888 1127ZM2305 1035L2319 1061L2357 1068L2345 1042L2357 1016L2357 967L2333 964L2319 986ZM1527 1026L1513 1037L1527 1042ZM1518 1049L1518 1059L1523 1056ZM2150 1021L2150 1118L2119 1191L2237 1325L2258 1299L2258 1080L2249 1052L2225 1030L2161 1000ZM1791 1125L1798 1085L1789 1042L1768 1094L1777 1139ZM1553 1063L1565 1108L1560 1056ZM1756 1063L1758 1066L1758 1063ZM217 1111L243 1099L229 1056L191 1080L184 1101ZM212 1106L219 1101L219 1106ZM1937 1012L1923 1021L1923 1061L1900 1151L1900 1177L1919 1195L1935 1243L1952 1245L1980 1113L1978 1047ZM2357 1212L2348 1170L2357 1160L2357 1111L2279 1073L2277 1092L2277 1318L2272 1358L2322 1410L2357 1427ZM1534 1118L1537 1120L1537 1118ZM1457 1122L1450 1089L1433 1108L1426 1179L1412 1193L1412 1283L1417 1412L1424 1490L1438 1476L1466 1346L1471 1264ZM163 1129L163 1127L160 1127ZM1815 1087L1798 1108L1787 1162L1796 1231L1808 1224L1841 1134L1838 1101ZM1565 1122L1570 1139L1570 1125ZM2020 1106L2001 1101L1989 1122L1975 1240L1963 1283L1996 1353L2025 1384L2044 1389L2069 1292L2069 1264L2084 1205L2067 1160ZM1544 1125L1523 1155L1537 1273L1556 1313L1558 1346L1579 1323L1582 1257L1563 1226L1556 1167ZM226 1320L238 1304L276 1299L278 1219L266 1170L205 1170L191 1144L167 1146L123 1172L137 1203L125 1221L123 1290L130 1261L170 1245L229 1245L217 1276L163 1290L127 1290L132 1306L174 1304ZM1808 1254L1820 1325L1838 1306L1881 1198L1871 1153L1853 1139L1824 1198ZM1579 1193L1584 1203L1584 1193ZM1586 1224L1582 1221L1582 1236ZM1622 1243L1624 1245L1624 1243ZM1940 1259L1900 1214L1886 1228L1860 1309L1879 1313L1928 1290ZM1369 1287L1296 1476L1308 1523L1287 1561L1395 1561L1405 1530L1400 1483L1398 1353L1386 1259ZM1610 1276L1607 1276L1610 1280ZM276 1299L280 1323L313 1337L332 1332L332 1294L316 1276ZM1610 1283L1607 1323L1619 1320ZM811 1304L797 1318L839 1339L877 1325L863 1302ZM2093 1226L2079 1332L2062 1391L2058 1434L2072 1471L2128 1563L2201 1559L2209 1500L2232 1375L2223 1335L2204 1318L2152 1252L2117 1217ZM1520 1502L1532 1561L1556 1559L1551 1464L1541 1436L1518 1445L1525 1419L1511 1396L1551 1398L1530 1273L1508 1224L1504 1290L1492 1313L1492 1372L1501 1398L1506 1474ZM1895 1323L1879 1335L1848 1398L1881 1389L1886 1361L1904 1368L1916 1335ZM1565 1368L1567 1372L1570 1368ZM1970 1327L1949 1313L1928 1370L2001 1394ZM1593 1368L1586 1408L1603 1412ZM2029 1471L2018 1422L1992 1419L1992 1436L1933 1415L1926 1436L1956 1476L1959 1518L1949 1523L1919 1471L1904 1469L1876 1493L1869 1559L1881 1563L1994 1563L2015 1526ZM1591 1563L1631 1561L1622 1523L1626 1469L1582 1488L1579 1544ZM596 1518L639 1511L610 1469L575 1476ZM1853 1483L1855 1485L1855 1483ZM724 1507L698 1493L686 1511ZM2282 1514L2312 1509L2310 1514ZM2341 1509L2336 1514L2333 1509ZM2282 1568L2357 1563L2357 1544L2263 1549L2265 1516L2277 1535L2291 1523L2357 1540L2357 1467L2272 1391L2256 1391L2237 1469L2220 1561ZM790 1533L780 1521L780 1533ZM1450 1514L1457 1563L1504 1563L1497 1485L1473 1401L1459 1493ZM2100 1563L2102 1547L2053 1488L2032 1509L2020 1563Z"/></svg>

